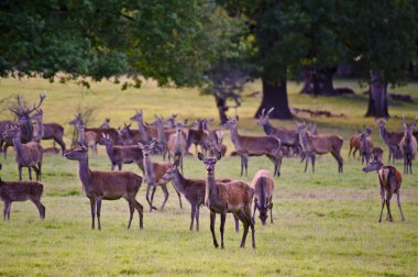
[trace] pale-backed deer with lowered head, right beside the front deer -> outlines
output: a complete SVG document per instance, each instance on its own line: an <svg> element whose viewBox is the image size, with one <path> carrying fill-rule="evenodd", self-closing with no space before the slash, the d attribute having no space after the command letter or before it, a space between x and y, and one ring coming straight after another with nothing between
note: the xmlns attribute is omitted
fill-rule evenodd
<svg viewBox="0 0 418 277"><path fill-rule="evenodd" d="M274 180L272 175L268 170L261 169L255 173L250 186L254 189L253 222L255 222L255 210L258 210L258 218L262 224L265 225L268 218L267 211L270 210L271 223L273 223Z"/></svg>

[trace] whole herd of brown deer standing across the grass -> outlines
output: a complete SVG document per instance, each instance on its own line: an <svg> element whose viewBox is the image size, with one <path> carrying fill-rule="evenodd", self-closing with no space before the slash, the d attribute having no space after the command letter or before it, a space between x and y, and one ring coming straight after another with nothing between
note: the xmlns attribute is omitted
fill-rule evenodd
<svg viewBox="0 0 418 277"><path fill-rule="evenodd" d="M258 118L257 124L263 126L265 135L243 135L238 131L239 117L229 118L220 129L210 129L212 120L198 119L190 126L187 120L176 122L176 115L168 119L155 115L154 123L146 123L142 110L135 110L130 118L136 122L138 129L131 129L131 124L114 129L110 126L110 119L99 128L87 128L82 117L77 114L70 122L78 132L76 146L66 149L64 142L64 128L58 123L44 123L41 106L46 98L40 95L40 101L29 107L21 97L16 97L16 104L9 109L15 115L15 120L0 121L0 151L7 158L7 149L13 146L19 169L19 181L3 181L0 179L0 200L4 202L3 219L10 219L11 203L13 201L31 200L38 209L40 217L45 218L45 207L41 202L44 186L42 179L42 162L44 153L48 153L41 146L42 140L54 140L61 146L61 154L72 160L78 162L78 177L82 184L85 195L90 200L91 228L100 230L100 210L102 200L117 200L124 198L129 203L130 218L128 228L131 226L134 211L139 213L140 228L143 228L143 206L136 201L136 195L143 180L147 185L146 201L150 212L157 210L154 206L154 195L157 187L164 193L161 210L168 199L167 184L172 182L183 208L182 196L191 206L190 231L199 231L200 207L206 206L210 212L210 231L213 245L219 246L215 233L216 214L220 214L221 247L223 244L224 223L227 213L232 213L235 220L235 230L239 231L239 222L243 226L241 247L244 247L249 231L251 230L252 246L255 247L255 214L264 225L268 218L273 223L273 199L275 190L275 177L280 176L280 167L285 157L299 156L305 160L305 173L309 160L312 173L317 155L330 153L338 164L338 173L343 173L343 158L341 148L343 138L337 134L318 133L315 124L296 122L295 129L276 128L270 122L273 108ZM395 164L403 158L404 174L413 174L413 160L417 153L417 132L414 128L418 115L411 123L402 118L404 132L389 132L385 123L388 119L375 119L380 137L388 148L388 163ZM249 158L252 156L266 156L274 165L273 174L266 169L258 170L251 184L228 178L216 179L216 164L227 153L223 144L223 132L229 130L230 140L235 148L234 155L241 159L241 176L248 176ZM382 210L387 209L387 221L393 221L391 212L391 199L397 195L402 220L405 220L400 206L402 174L394 166L383 164L383 149L374 147L371 136L372 128L363 126L350 140L349 157L355 158L359 152L362 164L366 164L363 171L376 171L381 185ZM184 175L184 157L190 153L191 144L195 145L195 155L202 162L207 176L201 179L189 179ZM110 170L91 170L89 168L88 149L97 155L97 146L102 145L110 160ZM54 146L55 148L55 146ZM200 148L200 149L198 149ZM163 162L155 162L154 156L161 155ZM232 155L232 154L231 154ZM46 156L45 156L46 157ZM166 160L167 158L167 160ZM172 162L173 159L173 162ZM135 164L142 175L122 170L123 164ZM1 169L0 164L0 169ZM30 181L22 180L22 168L28 167ZM119 170L114 170L118 167ZM32 169L36 175L36 181L32 181ZM254 202L254 203L253 203Z"/></svg>

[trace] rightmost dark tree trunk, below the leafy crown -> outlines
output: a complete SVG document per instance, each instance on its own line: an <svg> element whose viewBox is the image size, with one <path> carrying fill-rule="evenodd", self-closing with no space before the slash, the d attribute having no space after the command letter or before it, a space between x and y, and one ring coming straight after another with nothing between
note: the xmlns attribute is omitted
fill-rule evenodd
<svg viewBox="0 0 418 277"><path fill-rule="evenodd" d="M387 84L383 80L383 76L377 73L371 71L370 76L369 107L365 117L389 117L387 110Z"/></svg>

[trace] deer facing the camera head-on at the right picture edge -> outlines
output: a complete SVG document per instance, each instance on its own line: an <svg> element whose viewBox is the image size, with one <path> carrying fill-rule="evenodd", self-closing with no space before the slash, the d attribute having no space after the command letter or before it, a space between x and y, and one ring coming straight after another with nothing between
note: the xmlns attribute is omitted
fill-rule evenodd
<svg viewBox="0 0 418 277"><path fill-rule="evenodd" d="M399 148L404 156L404 174L413 174L413 160L417 154L417 140L413 135L414 126L417 124L418 115L414 122L408 124L405 122L405 118L402 117L402 123L404 124L404 137L400 140Z"/></svg>

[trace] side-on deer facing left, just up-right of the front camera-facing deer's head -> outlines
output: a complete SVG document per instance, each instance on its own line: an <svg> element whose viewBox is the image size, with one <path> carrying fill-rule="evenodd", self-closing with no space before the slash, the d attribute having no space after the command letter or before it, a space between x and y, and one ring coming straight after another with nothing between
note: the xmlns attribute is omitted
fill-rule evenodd
<svg viewBox="0 0 418 277"><path fill-rule="evenodd" d="M234 119L228 118L222 129L230 130L230 137L235 146L237 153L241 156L241 176L245 168L245 176L249 176L249 156L266 155L274 164L274 176L280 176L282 153L280 140L272 136L245 136L240 135L237 130L238 115Z"/></svg>

